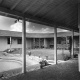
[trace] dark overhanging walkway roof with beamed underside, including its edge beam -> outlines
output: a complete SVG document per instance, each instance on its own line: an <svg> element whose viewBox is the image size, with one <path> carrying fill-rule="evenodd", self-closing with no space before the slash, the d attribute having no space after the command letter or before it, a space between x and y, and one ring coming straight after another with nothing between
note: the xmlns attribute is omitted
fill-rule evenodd
<svg viewBox="0 0 80 80"><path fill-rule="evenodd" d="M27 7L24 6L23 10L20 10L20 7L23 7L21 5L21 2L24 3L24 1L25 0L16 0L16 3L14 3L15 0L1 0L0 14L16 19L22 19L22 17L25 17L26 21L43 24L51 27L78 31L77 0L43 0L39 2L37 2L38 0L34 0L32 2L28 0L30 3L25 3ZM44 4L41 2L43 2ZM11 3L12 5L8 6L8 3ZM35 4L39 4L39 6L36 5L36 7L33 7L35 6ZM51 8L48 7L50 5L52 5Z"/></svg>

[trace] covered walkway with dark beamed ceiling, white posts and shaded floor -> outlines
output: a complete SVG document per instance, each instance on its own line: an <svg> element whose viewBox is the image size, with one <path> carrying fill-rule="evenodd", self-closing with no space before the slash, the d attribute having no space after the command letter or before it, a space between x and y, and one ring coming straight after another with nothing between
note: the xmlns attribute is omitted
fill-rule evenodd
<svg viewBox="0 0 80 80"><path fill-rule="evenodd" d="M79 80L77 60L57 64L57 28L72 31L72 58L74 55L74 31L80 30L77 0L0 0L0 14L22 20L22 73L25 74L9 80ZM57 65L26 72L26 21L54 27L54 60Z"/></svg>

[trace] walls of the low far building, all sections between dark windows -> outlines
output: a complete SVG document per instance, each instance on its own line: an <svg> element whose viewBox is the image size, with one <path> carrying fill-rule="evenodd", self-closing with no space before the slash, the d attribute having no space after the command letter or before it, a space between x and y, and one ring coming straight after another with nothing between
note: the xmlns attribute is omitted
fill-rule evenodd
<svg viewBox="0 0 80 80"><path fill-rule="evenodd" d="M11 48L22 48L22 44L18 44L17 43L17 37L13 37L12 38L12 45ZM26 39L26 48L30 49L32 48L33 45L33 39L32 38L27 38ZM53 41L53 39L50 39ZM44 46L45 48L49 48L50 47L50 40L48 38L45 38L45 42L44 42ZM53 44L53 42L52 42ZM58 48L62 48L62 44L57 44ZM64 45L64 47L67 47L68 45ZM77 48L79 46L79 38L74 37L74 48ZM10 48L10 44L7 44L7 37L0 37L0 51L4 51L5 49L9 49Z"/></svg>

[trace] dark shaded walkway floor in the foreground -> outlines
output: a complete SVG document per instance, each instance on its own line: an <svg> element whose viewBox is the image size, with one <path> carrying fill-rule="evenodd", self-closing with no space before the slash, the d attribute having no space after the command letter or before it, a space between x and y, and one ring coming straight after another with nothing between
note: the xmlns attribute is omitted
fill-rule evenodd
<svg viewBox="0 0 80 80"><path fill-rule="evenodd" d="M44 69L20 74L6 80L80 80L78 61L69 60Z"/></svg>

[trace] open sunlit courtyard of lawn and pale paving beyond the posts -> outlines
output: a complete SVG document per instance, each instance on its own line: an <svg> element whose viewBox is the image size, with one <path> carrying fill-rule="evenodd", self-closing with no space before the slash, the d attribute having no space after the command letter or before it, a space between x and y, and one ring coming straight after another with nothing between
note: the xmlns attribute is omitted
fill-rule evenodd
<svg viewBox="0 0 80 80"><path fill-rule="evenodd" d="M31 52L31 56L28 55L28 52ZM58 50L58 63L65 62L64 56L70 56L69 50ZM46 59L46 56L47 59ZM34 71L40 69L39 62L44 59L48 63L54 65L54 50L53 49L29 49L26 54L26 70ZM10 77L21 73L22 68L22 55L21 50L14 51L12 53L0 52L0 74L8 74L9 71L15 74L8 74L4 77ZM15 70L19 70L17 73ZM10 76L9 76L10 75Z"/></svg>

